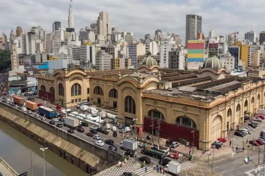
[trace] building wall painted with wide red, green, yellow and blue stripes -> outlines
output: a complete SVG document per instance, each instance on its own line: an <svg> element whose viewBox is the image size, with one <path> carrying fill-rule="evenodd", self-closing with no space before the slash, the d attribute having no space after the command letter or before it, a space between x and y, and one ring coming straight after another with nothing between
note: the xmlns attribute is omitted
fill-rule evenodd
<svg viewBox="0 0 265 176"><path fill-rule="evenodd" d="M204 40L188 40L187 62L203 62L204 45Z"/></svg>

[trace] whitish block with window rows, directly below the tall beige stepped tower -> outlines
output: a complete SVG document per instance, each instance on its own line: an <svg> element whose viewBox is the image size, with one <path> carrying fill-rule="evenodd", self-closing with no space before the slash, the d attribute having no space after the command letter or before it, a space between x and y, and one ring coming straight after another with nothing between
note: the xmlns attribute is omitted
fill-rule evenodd
<svg viewBox="0 0 265 176"><path fill-rule="evenodd" d="M99 50L96 53L96 69L97 70L111 70L112 55L106 53L104 50Z"/></svg>

